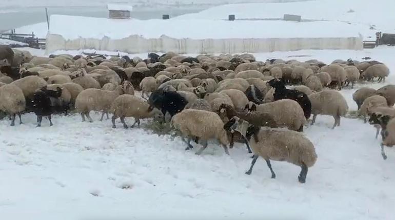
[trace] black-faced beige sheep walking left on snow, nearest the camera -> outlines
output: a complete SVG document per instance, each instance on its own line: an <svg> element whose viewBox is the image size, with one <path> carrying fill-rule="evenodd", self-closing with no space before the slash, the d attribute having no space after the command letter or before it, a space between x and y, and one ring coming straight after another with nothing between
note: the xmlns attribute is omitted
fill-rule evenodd
<svg viewBox="0 0 395 220"><path fill-rule="evenodd" d="M241 119L232 118L225 126L234 130L240 123ZM271 178L275 178L275 173L270 159L300 166L302 170L298 180L300 183L305 183L308 168L317 161L314 145L299 132L250 125L246 131L246 139L254 153L251 167L246 172L247 175L252 173L256 160L261 156L270 169Z"/></svg>

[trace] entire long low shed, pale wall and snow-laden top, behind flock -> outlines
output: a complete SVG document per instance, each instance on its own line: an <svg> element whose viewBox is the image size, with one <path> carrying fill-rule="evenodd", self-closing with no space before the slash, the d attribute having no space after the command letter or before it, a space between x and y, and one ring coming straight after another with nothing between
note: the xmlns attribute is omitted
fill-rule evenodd
<svg viewBox="0 0 395 220"><path fill-rule="evenodd" d="M128 53L258 53L302 49L362 50L363 43L358 31L340 22L114 21L52 15L47 53L78 49Z"/></svg>

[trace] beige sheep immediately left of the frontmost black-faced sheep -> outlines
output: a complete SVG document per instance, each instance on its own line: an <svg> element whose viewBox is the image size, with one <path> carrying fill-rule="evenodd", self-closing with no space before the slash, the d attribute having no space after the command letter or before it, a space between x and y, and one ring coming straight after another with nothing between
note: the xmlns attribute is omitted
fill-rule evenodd
<svg viewBox="0 0 395 220"><path fill-rule="evenodd" d="M218 114L204 110L185 109L172 117L171 124L182 133L182 139L188 145L186 150L193 148L190 144L192 137L198 137L203 142L203 147L196 152L198 155L207 148L207 141L215 138L220 141L225 153L229 155L228 136L224 129L224 123ZM185 140L185 137L188 138L188 141Z"/></svg>

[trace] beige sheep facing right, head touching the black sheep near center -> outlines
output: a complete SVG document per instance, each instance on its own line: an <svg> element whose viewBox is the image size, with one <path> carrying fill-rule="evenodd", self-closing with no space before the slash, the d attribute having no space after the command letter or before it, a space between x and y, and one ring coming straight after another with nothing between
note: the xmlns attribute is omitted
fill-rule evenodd
<svg viewBox="0 0 395 220"><path fill-rule="evenodd" d="M112 128L115 128L115 119L118 117L121 118L125 129L128 128L125 123L125 117L134 117L132 128L135 124L140 128L140 119L148 117L157 117L159 119L159 117L163 117L161 111L151 107L144 99L129 94L116 97L110 111L114 114L111 118Z"/></svg>

